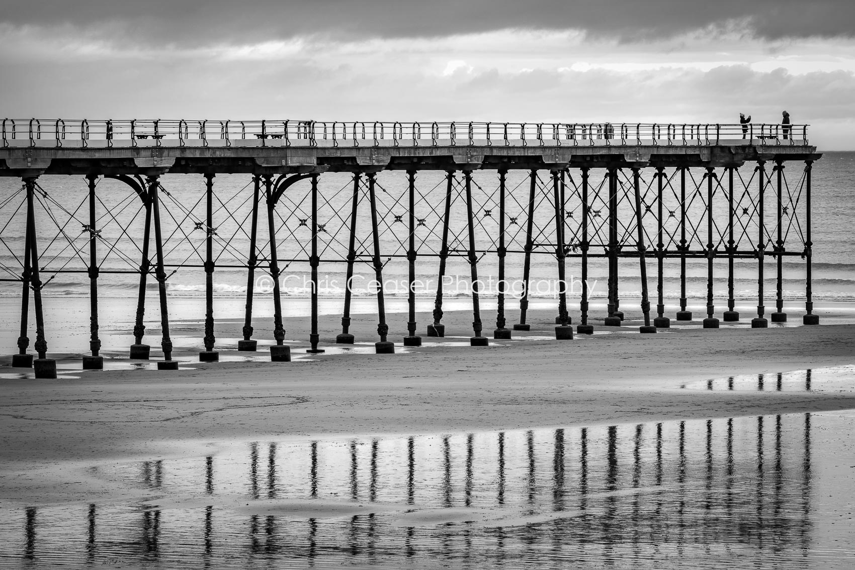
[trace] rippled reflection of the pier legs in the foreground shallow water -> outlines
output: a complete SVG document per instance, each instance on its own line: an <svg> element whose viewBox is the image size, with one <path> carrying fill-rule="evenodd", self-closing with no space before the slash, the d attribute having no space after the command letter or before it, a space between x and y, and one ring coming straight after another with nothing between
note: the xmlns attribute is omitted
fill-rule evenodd
<svg viewBox="0 0 855 570"><path fill-rule="evenodd" d="M95 562L121 555L216 567L218 560L322 566L439 556L526 565L727 554L751 565L803 557L813 541L811 414L256 443L243 457L168 461L162 477L164 489L188 496L213 486L214 505L242 489L251 514L90 505L82 523L64 521L88 528L81 549L71 538L77 533L50 532L62 524L50 508L30 508L18 555L43 562L62 550ZM363 513L276 514L279 500L312 497L322 497L312 502L317 508L358 504ZM396 514L384 514L390 504Z"/></svg>

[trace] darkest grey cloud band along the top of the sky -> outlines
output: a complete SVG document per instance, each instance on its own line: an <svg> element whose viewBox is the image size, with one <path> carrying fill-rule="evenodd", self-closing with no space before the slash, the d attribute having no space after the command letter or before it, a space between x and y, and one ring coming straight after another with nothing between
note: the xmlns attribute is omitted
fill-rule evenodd
<svg viewBox="0 0 855 570"><path fill-rule="evenodd" d="M852 37L851 0L29 0L14 26L97 29L137 44L330 38L436 38L500 29L585 30L620 41L741 30L759 38Z"/></svg>

